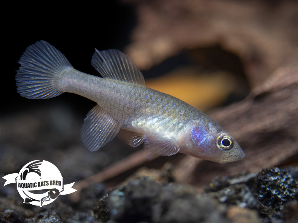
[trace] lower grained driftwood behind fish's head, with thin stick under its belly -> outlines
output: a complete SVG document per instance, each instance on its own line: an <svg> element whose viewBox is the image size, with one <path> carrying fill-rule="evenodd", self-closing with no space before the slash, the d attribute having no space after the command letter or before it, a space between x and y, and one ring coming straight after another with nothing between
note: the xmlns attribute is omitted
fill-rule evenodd
<svg viewBox="0 0 298 223"><path fill-rule="evenodd" d="M235 175L243 171L259 172L263 168L291 162L297 165L297 72L297 66L280 69L245 100L211 114L237 139L246 154L243 160L218 164L191 156L177 156L173 172L176 181L193 184L201 191L217 176ZM102 172L77 182L75 188L80 191L90 183L102 182L128 169L140 167L148 161L147 156L145 150L133 153ZM78 199L79 193L72 195L73 201Z"/></svg>

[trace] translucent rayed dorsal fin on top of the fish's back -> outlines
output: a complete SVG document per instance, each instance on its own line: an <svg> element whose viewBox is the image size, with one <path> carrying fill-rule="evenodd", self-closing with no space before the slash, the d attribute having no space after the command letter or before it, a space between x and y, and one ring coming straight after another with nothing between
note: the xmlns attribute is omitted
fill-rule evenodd
<svg viewBox="0 0 298 223"><path fill-rule="evenodd" d="M98 51L95 49L91 64L104 78L145 86L145 80L139 68L126 54L119 50Z"/></svg>

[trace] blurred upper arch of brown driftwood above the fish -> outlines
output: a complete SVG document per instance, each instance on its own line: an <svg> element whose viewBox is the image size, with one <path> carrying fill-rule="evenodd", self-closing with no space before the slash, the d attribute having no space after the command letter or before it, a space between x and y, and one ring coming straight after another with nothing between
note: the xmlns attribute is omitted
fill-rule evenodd
<svg viewBox="0 0 298 223"><path fill-rule="evenodd" d="M136 8L126 52L141 70L186 49L220 45L239 56L254 88L297 55L297 1L144 1ZM218 63L231 62L221 57Z"/></svg>

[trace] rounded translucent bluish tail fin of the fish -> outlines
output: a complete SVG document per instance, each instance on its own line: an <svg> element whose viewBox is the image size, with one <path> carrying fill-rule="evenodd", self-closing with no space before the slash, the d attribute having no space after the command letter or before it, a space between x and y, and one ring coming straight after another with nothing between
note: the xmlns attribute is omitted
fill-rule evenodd
<svg viewBox="0 0 298 223"><path fill-rule="evenodd" d="M72 67L66 57L46 41L30 45L19 60L15 76L17 91L31 99L53 98L63 92L59 80L63 70Z"/></svg>

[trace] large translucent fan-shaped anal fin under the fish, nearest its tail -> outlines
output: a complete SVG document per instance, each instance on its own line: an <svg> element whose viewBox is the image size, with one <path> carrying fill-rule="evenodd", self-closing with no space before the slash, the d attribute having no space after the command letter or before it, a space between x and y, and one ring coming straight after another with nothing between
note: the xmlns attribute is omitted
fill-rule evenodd
<svg viewBox="0 0 298 223"><path fill-rule="evenodd" d="M119 130L119 122L97 104L85 118L81 139L90 151L96 151L111 141Z"/></svg>

